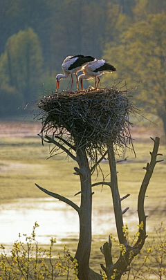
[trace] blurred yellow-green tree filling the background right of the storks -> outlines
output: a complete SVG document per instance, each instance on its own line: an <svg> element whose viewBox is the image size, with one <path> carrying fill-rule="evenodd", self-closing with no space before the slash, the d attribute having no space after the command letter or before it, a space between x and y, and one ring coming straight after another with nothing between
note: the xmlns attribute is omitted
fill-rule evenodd
<svg viewBox="0 0 166 280"><path fill-rule="evenodd" d="M129 86L140 85L138 106L158 115L166 132L166 15L149 13L147 3L138 1L134 21L120 32L120 41L107 43L104 57L116 65L117 78L122 75ZM108 85L107 77L102 81Z"/></svg>

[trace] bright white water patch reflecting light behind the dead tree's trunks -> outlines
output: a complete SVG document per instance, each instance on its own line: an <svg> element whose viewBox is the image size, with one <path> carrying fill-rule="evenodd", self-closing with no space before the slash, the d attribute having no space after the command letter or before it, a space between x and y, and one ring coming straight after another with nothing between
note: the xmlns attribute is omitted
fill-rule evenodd
<svg viewBox="0 0 166 280"><path fill-rule="evenodd" d="M136 217L129 223L137 223ZM0 240L5 245L11 245L21 235L33 231L35 221L39 224L36 229L37 241L42 244L50 243L50 237L61 239L78 239L79 219L77 212L65 203L53 198L21 198L15 203L0 205ZM113 223L111 223L111 221ZM115 232L114 216L102 209L93 211L93 236L107 236Z"/></svg>

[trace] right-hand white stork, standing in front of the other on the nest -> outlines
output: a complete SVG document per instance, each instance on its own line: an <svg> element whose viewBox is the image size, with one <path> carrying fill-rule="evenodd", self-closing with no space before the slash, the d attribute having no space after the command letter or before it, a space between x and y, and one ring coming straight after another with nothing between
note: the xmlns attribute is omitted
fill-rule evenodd
<svg viewBox="0 0 166 280"><path fill-rule="evenodd" d="M98 88L100 82L99 76L107 72L116 71L116 68L111 64L106 63L104 59L95 59L92 62L89 62L82 68L83 74L78 77L78 80L81 84L83 90L83 80L91 80L95 77L95 89ZM96 82L96 77L98 77L98 84Z"/></svg>

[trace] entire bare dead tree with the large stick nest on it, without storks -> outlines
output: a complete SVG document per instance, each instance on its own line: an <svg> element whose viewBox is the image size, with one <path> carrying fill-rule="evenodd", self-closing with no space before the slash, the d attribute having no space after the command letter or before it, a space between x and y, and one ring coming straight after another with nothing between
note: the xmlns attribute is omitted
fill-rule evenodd
<svg viewBox="0 0 166 280"><path fill-rule="evenodd" d="M134 245L129 245L125 234L122 214L127 211L121 208L116 171L116 155L118 149L127 147L131 142L129 113L135 112L131 98L127 91L122 89L107 88L101 91L80 92L69 95L68 93L51 93L42 97L37 103L39 115L42 120L42 142L53 143L55 146L51 154L56 154L59 149L71 157L77 167L76 175L80 176L81 201L77 206L71 200L59 194L49 192L43 187L37 187L46 194L64 201L73 207L80 219L80 239L75 258L78 263L77 277L80 280L101 280L102 275L89 268L91 253L91 212L92 212L92 187L107 185L110 187L113 198L113 209L116 218L116 228L120 243L120 257L113 263L111 255L111 240L104 243L101 248L104 254L105 265L102 270L107 279L120 279L122 274L129 270L129 265L136 254L140 253L146 239L146 216L144 212L145 192L154 167L158 160L159 138L154 141L154 150L151 152L151 161L147 163L145 178L140 187L138 196L139 235ZM100 162L108 158L111 179L92 185L91 176L98 169ZM160 160L159 160L160 161Z"/></svg>

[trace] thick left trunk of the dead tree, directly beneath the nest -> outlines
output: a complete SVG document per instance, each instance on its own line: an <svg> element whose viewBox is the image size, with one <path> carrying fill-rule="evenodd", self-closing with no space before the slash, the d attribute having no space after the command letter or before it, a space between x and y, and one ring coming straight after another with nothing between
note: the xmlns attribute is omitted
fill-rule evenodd
<svg viewBox="0 0 166 280"><path fill-rule="evenodd" d="M84 149L77 150L77 163L80 170L81 182L81 205L80 205L80 239L75 254L75 259L79 264L78 278L80 280L89 279L89 258L91 252L91 171Z"/></svg>

